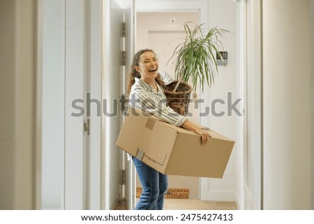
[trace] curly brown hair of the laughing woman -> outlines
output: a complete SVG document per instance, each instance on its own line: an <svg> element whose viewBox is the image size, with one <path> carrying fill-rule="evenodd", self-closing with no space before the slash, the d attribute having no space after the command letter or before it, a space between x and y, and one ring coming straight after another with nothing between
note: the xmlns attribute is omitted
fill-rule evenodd
<svg viewBox="0 0 314 224"><path fill-rule="evenodd" d="M141 74L139 72L137 72L137 70L135 69L135 66L139 66L140 56L145 52L151 52L151 53L155 54L154 50L143 49L143 50L138 51L134 55L132 64L130 65L130 73L128 74L128 90L127 90L128 94L130 94L130 89L132 88L133 84L135 83L135 77L137 77L139 79L141 77ZM155 80L161 87L165 87L165 82L163 82L159 73L158 73L157 77L155 78Z"/></svg>

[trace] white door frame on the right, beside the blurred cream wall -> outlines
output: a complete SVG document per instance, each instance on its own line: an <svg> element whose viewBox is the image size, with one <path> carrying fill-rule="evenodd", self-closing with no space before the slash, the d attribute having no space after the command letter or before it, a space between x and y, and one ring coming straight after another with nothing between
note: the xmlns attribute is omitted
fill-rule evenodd
<svg viewBox="0 0 314 224"><path fill-rule="evenodd" d="M239 117L239 209L262 209L262 31L261 1L239 5L239 74L243 117Z"/></svg>

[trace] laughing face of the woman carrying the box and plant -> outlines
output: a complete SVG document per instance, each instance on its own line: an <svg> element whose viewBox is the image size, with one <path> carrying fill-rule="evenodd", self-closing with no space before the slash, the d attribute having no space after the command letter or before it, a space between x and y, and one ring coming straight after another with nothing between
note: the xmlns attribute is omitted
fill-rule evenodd
<svg viewBox="0 0 314 224"><path fill-rule="evenodd" d="M140 55L139 65L135 66L143 80L156 78L158 75L158 59L153 52L144 52Z"/></svg>

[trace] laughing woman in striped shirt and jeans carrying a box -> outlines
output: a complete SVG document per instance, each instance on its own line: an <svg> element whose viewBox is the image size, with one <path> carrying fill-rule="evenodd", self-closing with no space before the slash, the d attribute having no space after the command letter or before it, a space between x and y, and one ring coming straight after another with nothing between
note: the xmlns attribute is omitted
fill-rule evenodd
<svg viewBox="0 0 314 224"><path fill-rule="evenodd" d="M130 107L141 108L156 117L187 130L193 130L200 135L201 144L207 143L210 137L206 130L200 129L184 116L167 107L167 100L158 74L158 59L153 50L144 49L137 52L133 58L131 72L128 75L128 94ZM167 175L145 165L132 157L137 174L142 185L142 194L135 209L162 210L164 193L167 191Z"/></svg>

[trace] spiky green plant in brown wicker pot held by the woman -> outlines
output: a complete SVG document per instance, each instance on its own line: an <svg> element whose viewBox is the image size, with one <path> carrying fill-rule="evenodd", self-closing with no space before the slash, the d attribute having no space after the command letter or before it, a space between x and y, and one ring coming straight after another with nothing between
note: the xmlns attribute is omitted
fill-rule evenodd
<svg viewBox="0 0 314 224"><path fill-rule="evenodd" d="M174 59L176 80L165 86L165 94L168 105L179 114L188 111L190 92L196 91L198 84L202 91L205 85L211 87L214 84L214 77L218 74L216 56L223 61L219 51L223 49L223 43L219 38L227 31L213 28L204 33L203 25L195 24L194 29L190 29L188 23L184 24L186 38L177 45L168 61Z"/></svg>

